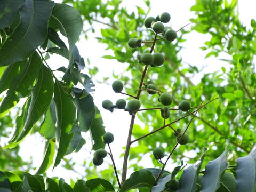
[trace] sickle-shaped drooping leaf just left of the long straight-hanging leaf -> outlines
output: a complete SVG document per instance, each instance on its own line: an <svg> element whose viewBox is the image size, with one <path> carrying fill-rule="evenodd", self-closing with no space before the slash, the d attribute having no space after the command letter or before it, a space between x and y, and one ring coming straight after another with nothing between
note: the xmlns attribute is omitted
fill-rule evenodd
<svg viewBox="0 0 256 192"><path fill-rule="evenodd" d="M53 84L53 77L50 69L43 65L39 72L37 83L31 93L28 115L17 142L28 134L33 125L50 106L54 89Z"/></svg>

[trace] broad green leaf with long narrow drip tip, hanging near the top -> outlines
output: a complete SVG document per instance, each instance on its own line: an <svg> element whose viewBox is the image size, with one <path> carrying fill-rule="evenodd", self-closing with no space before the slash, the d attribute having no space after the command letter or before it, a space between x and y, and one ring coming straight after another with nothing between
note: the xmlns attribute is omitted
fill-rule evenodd
<svg viewBox="0 0 256 192"><path fill-rule="evenodd" d="M69 15L69 17L67 17ZM62 35L68 38L69 69L73 69L73 49L83 29L83 21L79 12L73 7L56 3L50 18L50 26L60 29Z"/></svg>

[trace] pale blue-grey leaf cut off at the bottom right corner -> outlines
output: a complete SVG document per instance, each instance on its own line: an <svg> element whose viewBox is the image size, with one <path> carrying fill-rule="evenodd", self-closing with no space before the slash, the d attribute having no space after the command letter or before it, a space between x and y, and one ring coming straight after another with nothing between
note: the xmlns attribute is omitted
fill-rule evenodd
<svg viewBox="0 0 256 192"><path fill-rule="evenodd" d="M239 192L254 192L256 190L256 145L250 154L237 159L236 190Z"/></svg>

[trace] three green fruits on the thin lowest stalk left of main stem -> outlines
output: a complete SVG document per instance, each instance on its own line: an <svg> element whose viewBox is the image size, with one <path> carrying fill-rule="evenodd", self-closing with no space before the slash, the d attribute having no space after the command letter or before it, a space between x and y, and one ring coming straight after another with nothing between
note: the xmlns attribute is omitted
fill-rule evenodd
<svg viewBox="0 0 256 192"><path fill-rule="evenodd" d="M107 144L114 141L114 135L112 133L105 133L103 135L103 141ZM99 166L103 163L103 159L107 156L107 151L105 149L98 149L95 151L95 156L92 159L92 163Z"/></svg>

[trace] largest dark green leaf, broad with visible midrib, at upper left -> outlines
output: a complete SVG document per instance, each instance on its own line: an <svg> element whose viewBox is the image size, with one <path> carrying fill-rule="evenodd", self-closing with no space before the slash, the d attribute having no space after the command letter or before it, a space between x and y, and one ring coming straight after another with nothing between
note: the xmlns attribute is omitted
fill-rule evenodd
<svg viewBox="0 0 256 192"><path fill-rule="evenodd" d="M26 0L19 11L20 25L0 49L0 66L25 60L44 43L53 5L54 2Z"/></svg>

